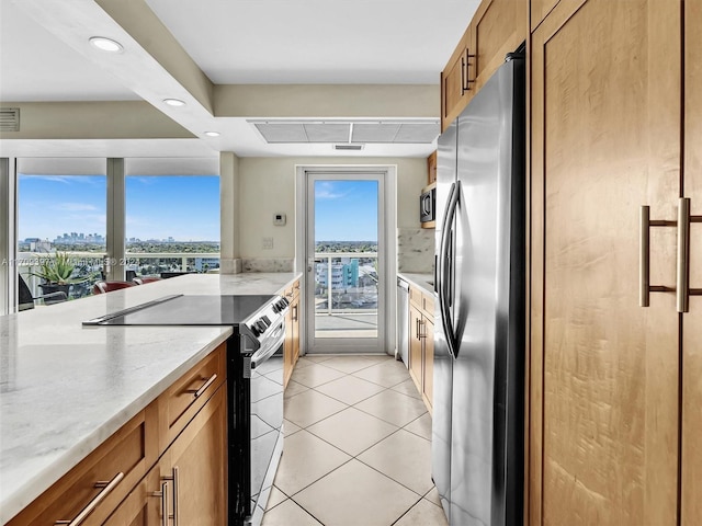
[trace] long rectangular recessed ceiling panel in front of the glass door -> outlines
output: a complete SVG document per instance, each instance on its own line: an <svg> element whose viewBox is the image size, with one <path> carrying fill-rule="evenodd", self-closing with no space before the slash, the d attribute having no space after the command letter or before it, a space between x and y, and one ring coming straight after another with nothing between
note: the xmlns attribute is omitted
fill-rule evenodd
<svg viewBox="0 0 702 526"><path fill-rule="evenodd" d="M251 119L263 140L273 144L427 145L441 133L435 118L414 119ZM358 150L353 148L336 148Z"/></svg>

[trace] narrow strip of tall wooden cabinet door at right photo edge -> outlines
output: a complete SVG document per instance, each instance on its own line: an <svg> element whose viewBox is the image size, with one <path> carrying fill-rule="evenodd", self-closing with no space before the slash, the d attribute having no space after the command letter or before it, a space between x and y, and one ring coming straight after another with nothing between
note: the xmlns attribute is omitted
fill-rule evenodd
<svg viewBox="0 0 702 526"><path fill-rule="evenodd" d="M702 216L702 0L684 2L684 191ZM690 286L702 288L702 224L690 226ZM682 524L702 524L702 296L682 315Z"/></svg>

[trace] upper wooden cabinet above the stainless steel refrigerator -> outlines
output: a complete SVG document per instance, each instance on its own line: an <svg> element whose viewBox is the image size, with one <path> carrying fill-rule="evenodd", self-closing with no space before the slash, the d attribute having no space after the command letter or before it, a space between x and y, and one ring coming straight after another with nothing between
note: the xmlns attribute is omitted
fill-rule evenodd
<svg viewBox="0 0 702 526"><path fill-rule="evenodd" d="M529 2L483 0L441 72L441 130L529 35Z"/></svg>

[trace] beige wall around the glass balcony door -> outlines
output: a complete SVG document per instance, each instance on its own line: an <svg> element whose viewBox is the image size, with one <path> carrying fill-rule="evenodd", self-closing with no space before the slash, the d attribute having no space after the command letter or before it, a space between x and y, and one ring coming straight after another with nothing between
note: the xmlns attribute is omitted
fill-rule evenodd
<svg viewBox="0 0 702 526"><path fill-rule="evenodd" d="M240 158L239 255L293 258L295 255L295 168L314 164L397 165L397 226L419 228L419 193L427 184L424 158ZM287 215L284 227L273 225L273 214ZM273 248L263 249L263 238Z"/></svg>

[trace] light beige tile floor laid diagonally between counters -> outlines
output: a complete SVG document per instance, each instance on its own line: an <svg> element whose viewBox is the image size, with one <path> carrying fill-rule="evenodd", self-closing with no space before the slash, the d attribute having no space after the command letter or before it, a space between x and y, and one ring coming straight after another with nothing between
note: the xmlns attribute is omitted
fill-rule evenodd
<svg viewBox="0 0 702 526"><path fill-rule="evenodd" d="M446 526L431 415L389 356L302 357L263 526Z"/></svg>

